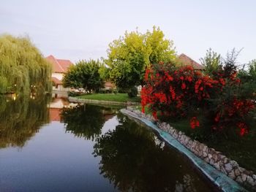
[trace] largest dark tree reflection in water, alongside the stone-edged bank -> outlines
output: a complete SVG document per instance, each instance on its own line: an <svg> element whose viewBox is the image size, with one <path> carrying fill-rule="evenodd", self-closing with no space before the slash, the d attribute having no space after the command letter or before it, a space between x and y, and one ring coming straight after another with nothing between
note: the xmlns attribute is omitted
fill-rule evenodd
<svg viewBox="0 0 256 192"><path fill-rule="evenodd" d="M181 154L133 120L118 115L120 125L97 139L99 169L120 191L208 191Z"/></svg>

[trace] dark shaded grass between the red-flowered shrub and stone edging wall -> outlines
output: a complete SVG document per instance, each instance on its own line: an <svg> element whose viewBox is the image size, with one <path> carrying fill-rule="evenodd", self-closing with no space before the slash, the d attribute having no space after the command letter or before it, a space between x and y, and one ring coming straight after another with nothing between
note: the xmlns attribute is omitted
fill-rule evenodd
<svg viewBox="0 0 256 192"><path fill-rule="evenodd" d="M141 110L141 107L136 107ZM145 109L146 113L148 109ZM203 119L198 117L200 122ZM184 132L192 139L203 142L208 147L213 147L215 150L222 152L228 158L238 162L238 164L248 170L256 172L256 120L251 121L249 134L244 137L239 136L238 133L233 132L229 136L221 133L213 134L211 125L200 125L199 128L192 129L189 126L189 118L181 120L165 120L170 126L173 126L178 131ZM238 131L238 130L237 130Z"/></svg>

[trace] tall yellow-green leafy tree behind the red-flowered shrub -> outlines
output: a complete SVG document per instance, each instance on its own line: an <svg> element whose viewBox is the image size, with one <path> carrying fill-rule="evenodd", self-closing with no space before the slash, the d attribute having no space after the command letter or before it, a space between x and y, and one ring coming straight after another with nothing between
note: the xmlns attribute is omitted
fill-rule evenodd
<svg viewBox="0 0 256 192"><path fill-rule="evenodd" d="M163 32L154 27L152 32L147 31L146 34L126 32L124 37L111 42L105 62L110 67L110 79L118 88L129 91L143 82L148 64L168 62L175 57L173 42L164 39Z"/></svg>

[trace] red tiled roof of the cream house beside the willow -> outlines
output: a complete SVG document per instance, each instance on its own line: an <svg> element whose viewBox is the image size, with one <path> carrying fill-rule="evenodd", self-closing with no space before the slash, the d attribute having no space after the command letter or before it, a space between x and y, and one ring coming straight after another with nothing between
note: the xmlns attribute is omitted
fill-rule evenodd
<svg viewBox="0 0 256 192"><path fill-rule="evenodd" d="M49 55L46 59L53 64L53 72L56 73L65 73L69 66L73 65L71 61L66 59L56 59L53 55Z"/></svg>

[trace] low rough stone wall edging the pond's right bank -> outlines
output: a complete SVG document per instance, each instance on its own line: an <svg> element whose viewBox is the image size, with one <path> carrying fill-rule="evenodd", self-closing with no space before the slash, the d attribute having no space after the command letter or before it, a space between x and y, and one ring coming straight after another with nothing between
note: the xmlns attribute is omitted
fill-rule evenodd
<svg viewBox="0 0 256 192"><path fill-rule="evenodd" d="M127 110L135 112L141 118L154 121L154 118L151 115L145 115L139 110L134 110L132 107L127 107ZM157 122L157 126L163 131L169 133L171 136L177 139L178 142L192 151L192 153L197 155L199 158L202 158L211 166L214 166L214 168L218 169L220 172L227 174L228 177L236 180L236 182L240 183L241 185L247 186L248 188L256 191L256 174L254 174L252 171L248 171L239 166L236 161L227 158L219 151L214 150L214 148L208 147L197 140L187 137L183 132L177 131L168 123Z"/></svg>

